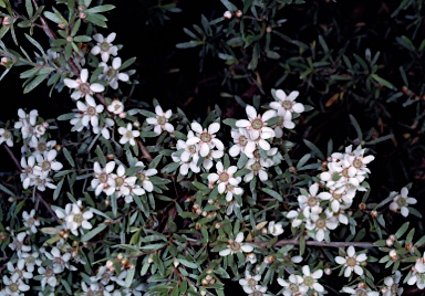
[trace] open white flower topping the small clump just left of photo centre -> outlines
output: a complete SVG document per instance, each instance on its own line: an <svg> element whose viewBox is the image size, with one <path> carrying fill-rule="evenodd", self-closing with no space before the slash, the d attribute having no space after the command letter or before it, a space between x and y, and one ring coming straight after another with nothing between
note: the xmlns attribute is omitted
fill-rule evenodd
<svg viewBox="0 0 425 296"><path fill-rule="evenodd" d="M186 145L199 145L199 155L206 157L212 148L224 150L225 146L216 138L216 133L220 129L219 123L212 123L208 126L208 129L204 128L196 121L191 123L191 129L196 133L194 137L187 139Z"/></svg>

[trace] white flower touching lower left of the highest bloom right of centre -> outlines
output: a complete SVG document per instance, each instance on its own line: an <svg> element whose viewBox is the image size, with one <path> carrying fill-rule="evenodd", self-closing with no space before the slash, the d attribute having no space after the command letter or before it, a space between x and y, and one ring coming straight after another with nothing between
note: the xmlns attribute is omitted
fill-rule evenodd
<svg viewBox="0 0 425 296"><path fill-rule="evenodd" d="M249 131L252 140L258 140L259 146L263 150L269 150L270 144L266 141L266 139L274 137L274 131L273 129L267 126L266 121L274 117L276 112L267 110L262 116L257 115L257 110L250 105L247 105L246 112L248 115L248 120L237 120L236 126L246 128Z"/></svg>

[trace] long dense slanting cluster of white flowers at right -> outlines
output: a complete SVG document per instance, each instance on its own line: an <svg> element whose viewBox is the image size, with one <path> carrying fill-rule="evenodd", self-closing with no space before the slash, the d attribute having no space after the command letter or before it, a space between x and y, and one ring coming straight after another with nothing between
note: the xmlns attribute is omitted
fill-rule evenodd
<svg viewBox="0 0 425 296"><path fill-rule="evenodd" d="M348 146L344 154L332 154L328 170L320 175L328 191L318 194L317 183L310 186L309 192L301 190L299 209L287 214L292 228L299 228L304 222L309 236L321 242L330 241L330 230L336 229L340 223L349 223L345 210L352 205L356 191L366 190L362 182L370 173L366 165L374 159L373 156L364 156L364 152L365 149L360 146L355 150Z"/></svg>

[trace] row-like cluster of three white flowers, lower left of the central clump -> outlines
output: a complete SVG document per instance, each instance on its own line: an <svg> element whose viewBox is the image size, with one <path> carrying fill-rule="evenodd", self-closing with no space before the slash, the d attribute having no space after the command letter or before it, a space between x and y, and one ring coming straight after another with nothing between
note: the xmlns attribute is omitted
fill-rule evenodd
<svg viewBox="0 0 425 296"><path fill-rule="evenodd" d="M91 182L91 187L94 189L96 195L102 192L106 195L116 194L117 198L123 197L126 203L133 201L133 195L143 195L154 190L149 177L156 175L156 169L145 170L145 166L142 161L135 163L136 167L141 167L141 170L135 176L126 176L125 167L118 165L116 173L114 173L116 162L110 161L102 168L96 161L94 162L94 179Z"/></svg>

